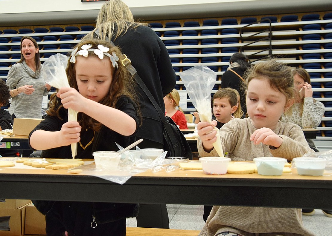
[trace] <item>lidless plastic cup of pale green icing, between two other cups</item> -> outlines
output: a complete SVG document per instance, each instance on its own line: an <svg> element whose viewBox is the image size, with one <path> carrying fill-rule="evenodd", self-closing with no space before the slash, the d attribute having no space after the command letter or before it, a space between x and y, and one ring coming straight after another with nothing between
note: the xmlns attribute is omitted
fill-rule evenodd
<svg viewBox="0 0 332 236"><path fill-rule="evenodd" d="M287 160L281 157L256 157L254 162L261 175L282 175Z"/></svg>

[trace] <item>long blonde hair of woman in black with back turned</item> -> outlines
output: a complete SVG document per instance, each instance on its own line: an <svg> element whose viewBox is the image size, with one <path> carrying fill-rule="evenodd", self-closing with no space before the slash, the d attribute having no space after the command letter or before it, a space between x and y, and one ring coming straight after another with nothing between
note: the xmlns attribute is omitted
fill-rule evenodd
<svg viewBox="0 0 332 236"><path fill-rule="evenodd" d="M87 34L82 40L91 39L94 32L99 30L99 37L106 40L106 36L114 40L122 34L125 34L129 28L136 28L139 25L147 25L134 20L129 7L121 0L106 1L101 7L96 28Z"/></svg>

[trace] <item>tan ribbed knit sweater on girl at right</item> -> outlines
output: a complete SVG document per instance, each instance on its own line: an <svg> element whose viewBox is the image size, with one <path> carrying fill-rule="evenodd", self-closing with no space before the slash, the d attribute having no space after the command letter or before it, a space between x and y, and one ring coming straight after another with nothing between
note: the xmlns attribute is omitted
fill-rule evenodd
<svg viewBox="0 0 332 236"><path fill-rule="evenodd" d="M225 124L220 129L220 138L228 157L232 160L249 161L255 157L269 156L292 160L313 152L301 128L293 123L279 121L278 127L273 131L283 138L283 143L274 150L267 145L254 145L250 141L250 135L255 130L250 118L234 119ZM203 150L200 138L197 146L201 157L217 156L214 149L210 153ZM225 231L243 236L253 236L253 233L280 233L268 234L269 236L314 236L303 226L301 209L213 206L199 236L214 236Z"/></svg>

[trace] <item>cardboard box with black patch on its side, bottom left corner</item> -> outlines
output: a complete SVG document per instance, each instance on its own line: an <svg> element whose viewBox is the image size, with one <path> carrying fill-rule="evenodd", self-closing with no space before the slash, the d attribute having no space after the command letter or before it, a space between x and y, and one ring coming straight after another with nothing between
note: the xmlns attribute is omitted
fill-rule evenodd
<svg viewBox="0 0 332 236"><path fill-rule="evenodd" d="M22 236L24 233L25 206L19 209L0 209L1 236Z"/></svg>

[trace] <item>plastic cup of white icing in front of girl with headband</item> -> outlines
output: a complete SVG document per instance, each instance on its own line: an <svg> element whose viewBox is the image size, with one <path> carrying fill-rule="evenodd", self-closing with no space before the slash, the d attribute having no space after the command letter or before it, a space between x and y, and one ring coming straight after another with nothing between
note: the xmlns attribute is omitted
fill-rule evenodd
<svg viewBox="0 0 332 236"><path fill-rule="evenodd" d="M98 151L93 152L97 169L116 170L121 158L121 155L115 157L118 152L114 151Z"/></svg>

